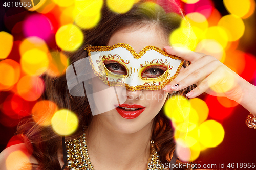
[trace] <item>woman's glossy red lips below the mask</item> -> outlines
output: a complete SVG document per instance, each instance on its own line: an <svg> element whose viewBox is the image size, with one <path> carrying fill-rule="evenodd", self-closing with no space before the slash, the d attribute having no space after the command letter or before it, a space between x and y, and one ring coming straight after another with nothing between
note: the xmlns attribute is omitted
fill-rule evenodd
<svg viewBox="0 0 256 170"><path fill-rule="evenodd" d="M122 116L123 118L127 118L127 119L133 119L138 117L144 110L145 107L141 106L141 105L129 105L129 104L120 104L120 105L115 105L115 106L119 106L116 107L117 112L120 114L120 116ZM121 107L126 107L126 108L138 108L137 110L125 110Z"/></svg>

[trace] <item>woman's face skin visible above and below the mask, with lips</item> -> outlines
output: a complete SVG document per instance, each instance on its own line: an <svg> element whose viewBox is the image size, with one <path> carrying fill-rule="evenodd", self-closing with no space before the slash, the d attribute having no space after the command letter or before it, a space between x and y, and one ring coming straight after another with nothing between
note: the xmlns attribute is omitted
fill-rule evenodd
<svg viewBox="0 0 256 170"><path fill-rule="evenodd" d="M117 43L126 43L134 48L134 50L139 53L144 47L152 45L159 47L163 50L164 46L168 46L167 39L164 38L164 34L162 30L155 25L145 25L143 27L129 27L122 29L115 34L113 34L110 38L108 46L115 45ZM122 69L118 66L111 65L111 69L120 70L120 74L122 74ZM148 74L155 74L155 72L148 71ZM107 85L103 83L100 79L93 80L94 91L101 91L103 89L108 88ZM122 95L125 95L125 101L122 102L124 107L129 107L129 105L134 105L133 107L138 107L136 105L140 105L144 107L140 114L129 114L131 110L125 110L125 108L113 108L110 111L98 114L94 116L94 119L100 120L100 125L104 128L108 128L112 131L117 131L120 133L135 133L143 128L151 128L151 123L154 117L161 110L168 93L164 92L162 89L160 90L138 90L138 91L130 91L125 88L118 88L117 90ZM125 91L122 91L125 90ZM125 93L126 92L126 93ZM113 105L110 104L113 101L111 98L115 98L115 95L108 95L102 93L101 102L94 101L97 107L106 108ZM97 97L99 99L99 96ZM125 105L127 104L127 105ZM117 103L118 105L118 103ZM135 109L136 109L135 108ZM120 110L121 109L121 110ZM128 113L127 113L128 111Z"/></svg>

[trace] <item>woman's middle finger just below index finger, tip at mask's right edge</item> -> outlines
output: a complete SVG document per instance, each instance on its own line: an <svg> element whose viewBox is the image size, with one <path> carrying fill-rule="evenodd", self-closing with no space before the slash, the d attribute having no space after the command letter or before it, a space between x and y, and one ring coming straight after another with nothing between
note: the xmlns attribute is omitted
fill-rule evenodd
<svg viewBox="0 0 256 170"><path fill-rule="evenodd" d="M195 84L197 81L202 80L206 76L208 76L219 65L220 65L219 60L215 59L212 56L206 55L200 58L199 60L197 60L195 63L186 67L183 71L181 71L178 74L178 76L167 85L166 89L172 89L174 91L178 91L183 88L186 88L189 85ZM203 68L203 69L200 69L200 68ZM191 76L188 77L189 75ZM189 79L190 82L189 81L186 82L187 77L194 78L194 80Z"/></svg>

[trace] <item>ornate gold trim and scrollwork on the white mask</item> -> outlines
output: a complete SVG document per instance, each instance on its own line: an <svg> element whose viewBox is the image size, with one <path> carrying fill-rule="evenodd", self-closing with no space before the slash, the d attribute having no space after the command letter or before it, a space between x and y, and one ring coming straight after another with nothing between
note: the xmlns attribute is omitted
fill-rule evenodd
<svg viewBox="0 0 256 170"><path fill-rule="evenodd" d="M158 83L156 83L156 81L153 81L153 82L144 82L142 85L137 85L137 86L130 86L128 85L127 83L124 83L122 79L117 79L116 81L111 78L109 80L109 77L108 77L108 74L112 74L112 75L115 75L113 72L109 71L108 69L106 69L105 66L102 66L101 68L99 68L100 72L98 72L95 68L94 68L94 65L93 65L93 62L92 62L92 58L91 58L91 52L100 52L100 51L111 51L111 50L114 50L115 48L118 48L118 47L123 47L123 48L126 48L127 50L130 51L130 53L134 56L134 58L136 59L139 59L141 58L148 50L155 50L157 52L159 52L160 54L166 56L166 57L169 57L169 58L172 58L172 59L175 59L175 60L181 60L181 63L176 71L176 73L174 74L174 76L172 76L171 78L168 79L168 76L170 76L169 74L167 74L168 72L165 71L164 74L162 74L161 76L159 77L156 77L156 78L144 78L140 75L138 75L140 78L143 78L143 79L147 79L147 80L152 80L152 79L160 79L159 81L157 81ZM184 60L178 56L174 56L174 55L170 55L168 54L167 52L161 50L160 48L156 47L156 46L146 46L144 47L139 53L137 53L133 47L131 47L130 45L128 44L125 44L125 43L118 43L118 44L115 44L115 45L112 45L112 46L87 46L86 48L84 48L84 50L87 50L88 52L88 56L89 56L89 61L90 61L90 64L91 64L91 67L94 71L94 73L106 84L106 85L109 85L109 86L121 86L121 87L124 87L127 89L127 90L130 90L130 91L137 91L137 90L159 90L159 89L162 89L164 86L166 86L170 81L172 81L178 74L179 74L179 70L181 69L183 63L184 63ZM110 58L110 57L118 57L118 60L122 61L122 62L130 62L129 60L126 60L124 61L119 55L115 54L113 56L109 56L106 57L105 55L104 56L99 56L99 59L100 61L103 60L103 58ZM119 58L120 57L120 58ZM114 59L114 58L113 58ZM99 60L97 60L97 62L100 62ZM160 63L159 65L162 65L162 64L166 64L167 63L167 60L165 59L163 61L163 59L154 59L152 61L145 61L145 64L140 64L140 67L146 67L148 64L152 64L153 62L156 62L156 63ZM104 65L104 64L103 64ZM168 63L167 64L168 67L167 69L169 70L172 70L173 66ZM129 75L129 68L125 67L126 70L127 70L127 75L118 75L118 77L120 76L121 77L127 77L129 78L131 75L132 75L132 67L131 67L131 74ZM105 70L105 72L103 72L103 70ZM134 70L134 73L135 73L135 70ZM133 73L133 74L134 74ZM138 74L139 74L139 71L138 71Z"/></svg>

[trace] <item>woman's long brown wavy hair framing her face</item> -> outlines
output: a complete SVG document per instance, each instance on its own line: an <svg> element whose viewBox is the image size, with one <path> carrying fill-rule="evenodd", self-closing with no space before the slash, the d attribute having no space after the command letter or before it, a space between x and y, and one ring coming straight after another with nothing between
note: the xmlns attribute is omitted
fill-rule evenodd
<svg viewBox="0 0 256 170"><path fill-rule="evenodd" d="M105 46L115 32L125 27L154 24L163 31L168 42L169 34L180 26L182 16L173 12L166 13L166 9L164 10L159 5L142 6L142 3L144 2L136 3L125 14L110 11L104 3L98 25L92 29L83 30L85 37L83 45L76 52L67 53L70 64L88 56L84 47L88 45ZM172 7L168 6L168 10L170 8ZM185 62L185 64L187 66L189 62ZM53 101L59 109L69 109L77 114L79 119L78 129L72 136L69 136L70 138L76 138L83 131L83 127L87 128L90 125L93 118L87 97L70 95L67 90L65 75L60 77L43 75L42 78L45 81L45 92L42 99ZM188 91L190 89L179 91L178 94L186 94ZM155 141L163 164L170 162L173 156L175 149L173 133L174 130L170 125L170 120L161 110L154 118L152 139ZM26 136L28 140L25 143L32 146L28 149L38 160L38 164L33 164L33 169L61 169L57 151L61 149L62 136L56 134L51 126L40 126L31 118L19 125L17 134ZM181 161L178 159L176 163L181 163Z"/></svg>

